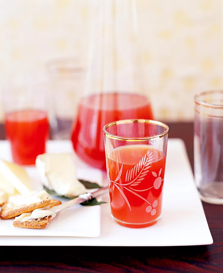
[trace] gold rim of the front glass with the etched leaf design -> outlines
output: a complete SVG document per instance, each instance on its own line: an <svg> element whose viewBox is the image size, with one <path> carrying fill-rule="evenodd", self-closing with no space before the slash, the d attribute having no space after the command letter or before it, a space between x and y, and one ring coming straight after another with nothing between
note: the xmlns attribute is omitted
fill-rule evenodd
<svg viewBox="0 0 223 273"><path fill-rule="evenodd" d="M121 135L114 135L109 133L106 129L109 127L112 127L114 125L120 125L120 124L128 124L128 123L134 123L134 122L138 122L138 123L149 123L149 124L154 124L157 126L161 126L165 129L165 131L161 134L157 134L157 135L151 135L151 136L145 136L145 137L124 137ZM157 120L152 120L152 119L122 119L122 120L118 120L118 121L114 121L114 122L110 122L108 124L106 124L103 127L103 131L106 134L107 137L109 138L113 138L113 139L118 139L118 140L122 140L122 141L128 141L128 140L135 140L135 141L144 141L144 140L152 140L154 138L163 138L165 135L168 134L169 132L169 127L167 126L167 124L157 121Z"/></svg>

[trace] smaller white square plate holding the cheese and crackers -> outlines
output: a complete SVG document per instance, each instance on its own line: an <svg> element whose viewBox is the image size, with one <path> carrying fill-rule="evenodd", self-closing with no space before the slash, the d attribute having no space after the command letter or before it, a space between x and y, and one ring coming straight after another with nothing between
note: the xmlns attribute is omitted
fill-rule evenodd
<svg viewBox="0 0 223 273"><path fill-rule="evenodd" d="M70 141L48 141L46 150L48 152L73 152ZM8 141L0 141L1 158L11 161L10 146ZM83 162L77 160L78 178L102 184L102 174L99 170L89 168ZM26 167L27 173L32 178L33 189L43 189L40 184L35 167ZM65 199L60 199L64 202ZM67 200L66 200L67 201ZM15 228L13 219L0 219L0 235L4 236L80 236L97 237L100 235L100 206L76 205L63 210L44 229ZM56 221L54 221L56 219ZM88 223L91 223L89 226Z"/></svg>

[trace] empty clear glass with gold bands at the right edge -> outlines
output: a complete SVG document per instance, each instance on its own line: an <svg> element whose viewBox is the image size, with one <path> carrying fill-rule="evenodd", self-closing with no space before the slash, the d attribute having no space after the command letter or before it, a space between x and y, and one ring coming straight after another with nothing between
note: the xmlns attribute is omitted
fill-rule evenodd
<svg viewBox="0 0 223 273"><path fill-rule="evenodd" d="M194 175L201 199L223 204L223 91L195 95Z"/></svg>

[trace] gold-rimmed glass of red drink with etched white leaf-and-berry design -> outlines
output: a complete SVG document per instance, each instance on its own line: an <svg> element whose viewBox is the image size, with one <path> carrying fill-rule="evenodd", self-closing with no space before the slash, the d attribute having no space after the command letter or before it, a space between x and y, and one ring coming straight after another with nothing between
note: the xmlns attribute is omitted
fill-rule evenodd
<svg viewBox="0 0 223 273"><path fill-rule="evenodd" d="M111 122L104 128L112 219L130 228L161 218L169 128L148 119Z"/></svg>

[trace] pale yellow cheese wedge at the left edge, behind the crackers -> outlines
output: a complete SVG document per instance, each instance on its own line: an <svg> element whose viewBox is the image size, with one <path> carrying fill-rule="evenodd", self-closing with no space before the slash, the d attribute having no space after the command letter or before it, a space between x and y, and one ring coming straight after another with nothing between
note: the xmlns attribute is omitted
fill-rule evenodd
<svg viewBox="0 0 223 273"><path fill-rule="evenodd" d="M0 190L9 196L29 193L32 184L26 170L18 164L0 159Z"/></svg>

